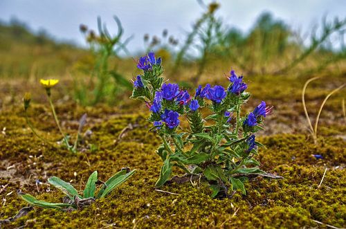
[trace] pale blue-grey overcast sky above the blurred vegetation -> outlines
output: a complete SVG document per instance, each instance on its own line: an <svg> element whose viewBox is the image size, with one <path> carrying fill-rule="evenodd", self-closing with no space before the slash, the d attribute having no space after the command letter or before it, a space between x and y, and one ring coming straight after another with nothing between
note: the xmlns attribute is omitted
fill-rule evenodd
<svg viewBox="0 0 346 229"><path fill-rule="evenodd" d="M210 2L205 0L206 3ZM253 25L264 10L283 19L294 29L307 30L319 23L324 15L343 19L346 0L219 0L217 15L230 26L243 31ZM46 29L56 39L84 44L79 25L96 27L96 17L107 22L110 32L116 33L112 15L117 15L125 28L125 37L134 35L130 51L143 49L143 35L161 35L167 28L175 37L184 37L192 22L203 9L196 0L0 0L0 19L16 17L33 30Z"/></svg>

